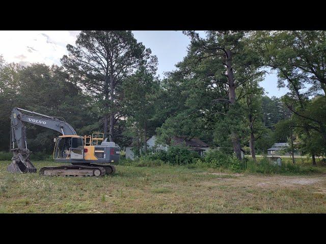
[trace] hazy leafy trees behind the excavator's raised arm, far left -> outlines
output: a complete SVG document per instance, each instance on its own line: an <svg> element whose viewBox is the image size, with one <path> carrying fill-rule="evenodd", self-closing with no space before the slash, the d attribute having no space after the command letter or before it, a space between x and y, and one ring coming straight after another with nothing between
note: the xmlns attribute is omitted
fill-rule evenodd
<svg viewBox="0 0 326 244"><path fill-rule="evenodd" d="M62 67L32 64L28 67L8 65L0 70L0 150L9 150L10 114L13 107L63 117L77 132L97 120L91 100L73 82L67 80ZM62 118L61 118L62 119ZM52 153L53 138L58 132L25 123L30 150ZM93 129L93 128L92 128Z"/></svg>

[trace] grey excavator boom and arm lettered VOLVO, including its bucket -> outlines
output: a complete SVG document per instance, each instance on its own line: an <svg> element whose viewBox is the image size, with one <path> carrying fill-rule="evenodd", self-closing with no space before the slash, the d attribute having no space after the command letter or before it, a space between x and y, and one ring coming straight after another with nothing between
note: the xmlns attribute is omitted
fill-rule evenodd
<svg viewBox="0 0 326 244"><path fill-rule="evenodd" d="M21 111L33 115L26 115ZM27 147L25 123L52 129L60 132L62 135L77 135L75 130L65 121L15 107L11 112L10 147L13 152L13 158L12 163L7 167L9 172L36 172L36 168L29 160L31 151Z"/></svg>

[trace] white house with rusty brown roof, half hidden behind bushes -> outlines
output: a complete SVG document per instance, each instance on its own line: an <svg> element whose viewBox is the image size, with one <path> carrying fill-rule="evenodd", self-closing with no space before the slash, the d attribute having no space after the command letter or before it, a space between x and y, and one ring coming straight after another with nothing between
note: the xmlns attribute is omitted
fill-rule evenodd
<svg viewBox="0 0 326 244"><path fill-rule="evenodd" d="M209 149L209 145L199 140L198 138L192 138L190 140L184 137L174 137L171 140L172 145L186 145L189 150L196 151L200 156L204 156L205 151ZM156 150L168 150L168 145L156 143L156 136L152 136L147 140L148 149L155 148ZM134 154L131 148L134 145L131 144L125 147L126 159L134 160Z"/></svg>

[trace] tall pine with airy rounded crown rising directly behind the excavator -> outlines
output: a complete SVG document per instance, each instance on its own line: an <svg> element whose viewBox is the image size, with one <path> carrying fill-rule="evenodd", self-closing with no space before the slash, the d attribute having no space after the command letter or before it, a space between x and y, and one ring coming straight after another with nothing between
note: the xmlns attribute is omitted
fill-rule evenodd
<svg viewBox="0 0 326 244"><path fill-rule="evenodd" d="M83 31L76 46L67 45L63 66L93 96L103 115L104 135L113 141L120 110L121 83L150 59L150 49L138 43L131 31Z"/></svg>

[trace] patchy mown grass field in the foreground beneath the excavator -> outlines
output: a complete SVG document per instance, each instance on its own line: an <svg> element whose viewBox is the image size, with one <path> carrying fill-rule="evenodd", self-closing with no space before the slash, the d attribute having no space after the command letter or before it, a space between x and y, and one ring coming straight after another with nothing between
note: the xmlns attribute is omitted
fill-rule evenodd
<svg viewBox="0 0 326 244"><path fill-rule="evenodd" d="M114 176L12 174L0 161L0 212L326 212L326 173L263 175L185 166L117 166ZM58 165L34 162L43 166Z"/></svg>

